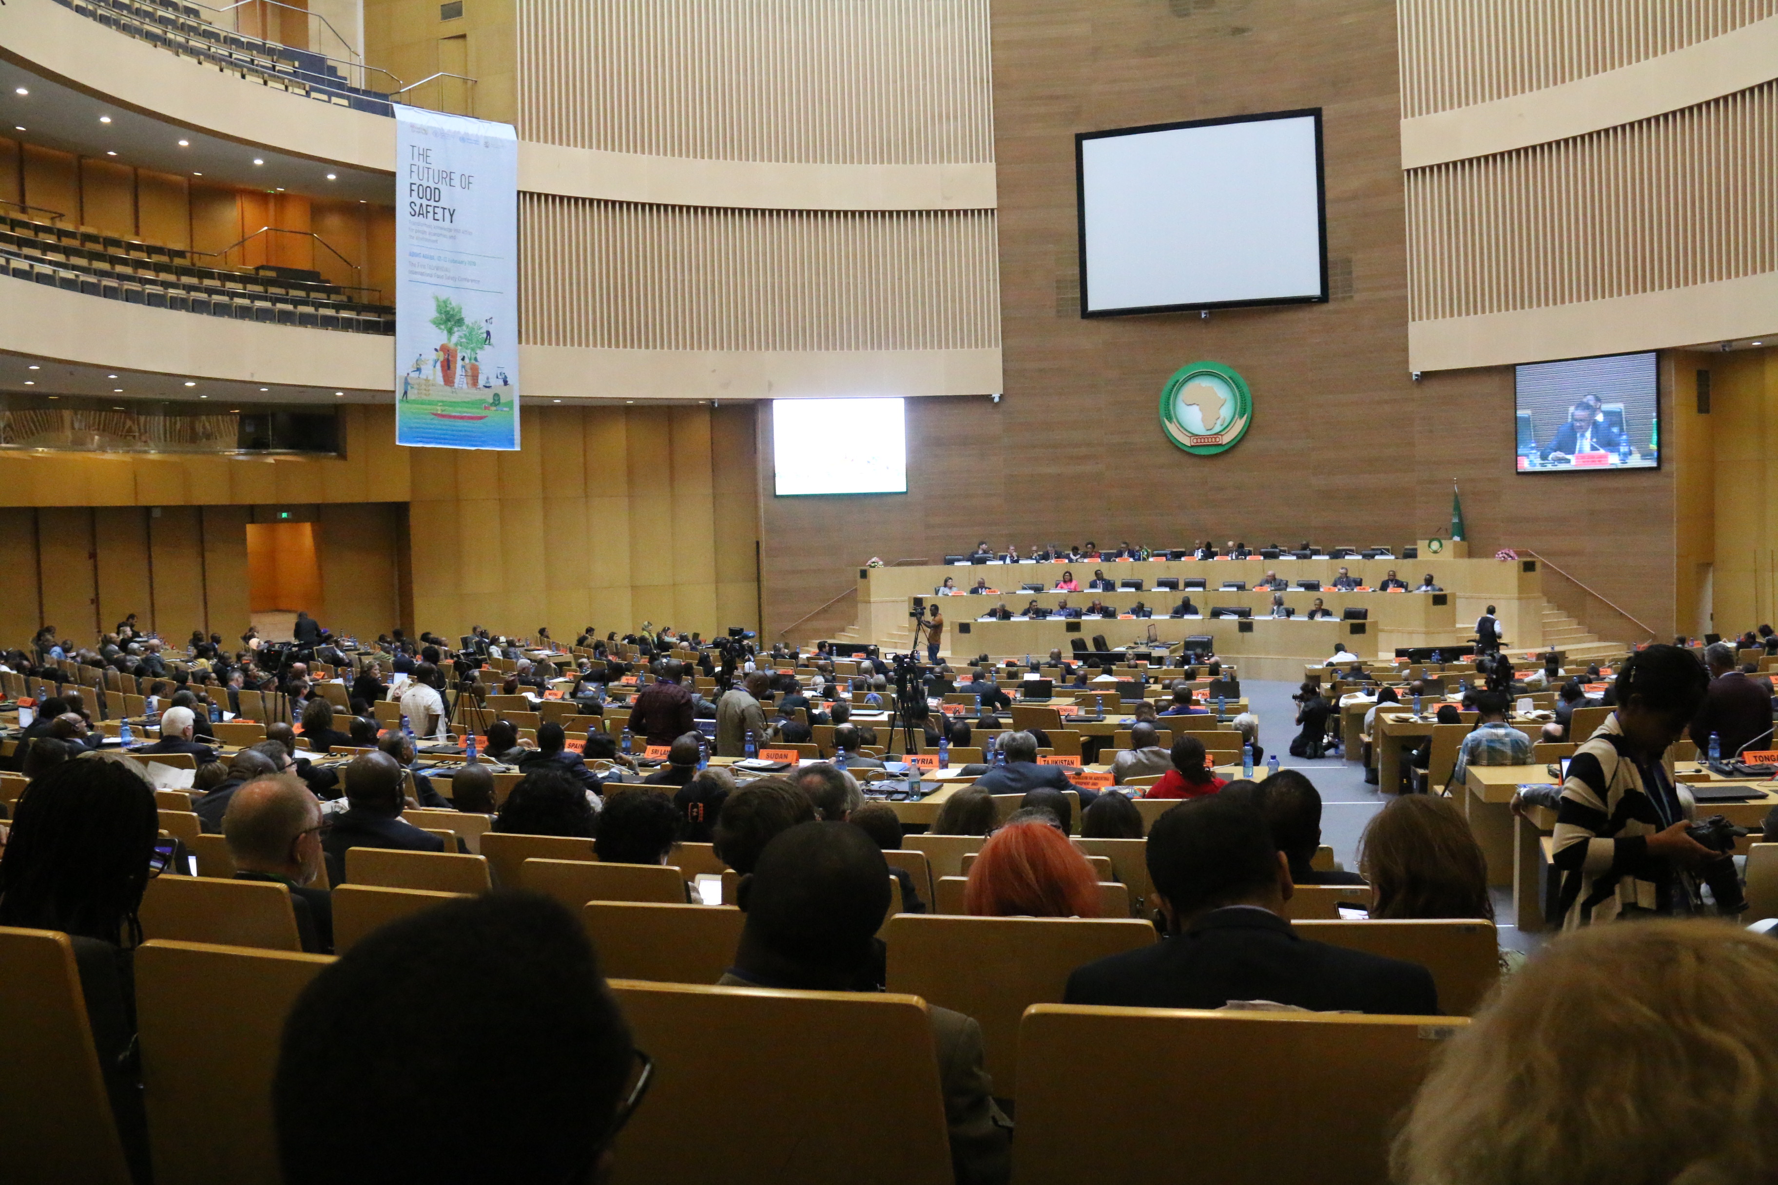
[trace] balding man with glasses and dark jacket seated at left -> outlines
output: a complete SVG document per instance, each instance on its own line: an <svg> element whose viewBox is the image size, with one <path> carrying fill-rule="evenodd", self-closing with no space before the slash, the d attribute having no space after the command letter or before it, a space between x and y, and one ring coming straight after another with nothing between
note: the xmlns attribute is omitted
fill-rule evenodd
<svg viewBox="0 0 1778 1185"><path fill-rule="evenodd" d="M332 954L332 894L309 888L322 871L320 835L320 803L288 775L247 782L222 812L222 839L235 860L235 879L288 888L302 949Z"/></svg>

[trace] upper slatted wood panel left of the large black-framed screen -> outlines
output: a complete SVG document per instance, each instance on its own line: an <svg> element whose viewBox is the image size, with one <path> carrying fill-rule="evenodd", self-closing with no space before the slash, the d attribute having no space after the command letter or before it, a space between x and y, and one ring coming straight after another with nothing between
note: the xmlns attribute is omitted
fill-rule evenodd
<svg viewBox="0 0 1778 1185"><path fill-rule="evenodd" d="M526 0L519 135L706 160L990 162L989 0Z"/></svg>

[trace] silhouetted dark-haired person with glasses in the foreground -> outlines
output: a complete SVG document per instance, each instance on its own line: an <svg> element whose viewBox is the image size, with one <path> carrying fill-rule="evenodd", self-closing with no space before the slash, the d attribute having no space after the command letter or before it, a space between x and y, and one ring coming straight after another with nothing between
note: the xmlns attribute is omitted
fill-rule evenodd
<svg viewBox="0 0 1778 1185"><path fill-rule="evenodd" d="M368 934L292 1007L272 1084L283 1180L603 1180L647 1086L637 1059L578 917L519 894L450 901ZM416 1100L471 1100L471 1121Z"/></svg>

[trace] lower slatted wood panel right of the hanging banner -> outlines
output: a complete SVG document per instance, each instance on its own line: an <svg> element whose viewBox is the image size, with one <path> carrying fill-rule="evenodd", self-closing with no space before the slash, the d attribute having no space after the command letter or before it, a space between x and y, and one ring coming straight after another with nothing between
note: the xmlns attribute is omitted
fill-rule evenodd
<svg viewBox="0 0 1778 1185"><path fill-rule="evenodd" d="M711 210L521 194L519 215L530 345L999 345L992 210Z"/></svg>

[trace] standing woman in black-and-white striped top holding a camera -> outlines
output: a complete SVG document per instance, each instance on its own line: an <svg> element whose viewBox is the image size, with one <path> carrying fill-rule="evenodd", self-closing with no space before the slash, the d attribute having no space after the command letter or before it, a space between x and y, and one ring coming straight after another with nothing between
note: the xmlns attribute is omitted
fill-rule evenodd
<svg viewBox="0 0 1778 1185"><path fill-rule="evenodd" d="M1691 796L1661 764L1668 746L1686 734L1707 686L1703 664L1687 650L1639 650L1618 673L1618 709L1575 752L1566 782L1513 799L1513 810L1556 810L1554 874L1565 929L1702 911L1700 883L1710 887L1719 913L1744 908L1728 855L1732 833L1723 851L1726 826L1712 819L1694 828Z"/></svg>

